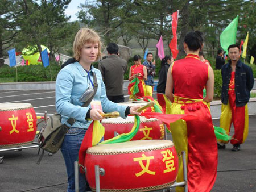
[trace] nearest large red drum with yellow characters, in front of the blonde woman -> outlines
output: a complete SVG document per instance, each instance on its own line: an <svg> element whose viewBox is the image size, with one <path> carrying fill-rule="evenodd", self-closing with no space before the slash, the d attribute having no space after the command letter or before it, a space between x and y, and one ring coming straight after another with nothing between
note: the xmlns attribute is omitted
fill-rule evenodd
<svg viewBox="0 0 256 192"><path fill-rule="evenodd" d="M84 165L93 191L95 165L104 171L101 191L151 191L175 182L178 157L170 140L128 141L88 148Z"/></svg>

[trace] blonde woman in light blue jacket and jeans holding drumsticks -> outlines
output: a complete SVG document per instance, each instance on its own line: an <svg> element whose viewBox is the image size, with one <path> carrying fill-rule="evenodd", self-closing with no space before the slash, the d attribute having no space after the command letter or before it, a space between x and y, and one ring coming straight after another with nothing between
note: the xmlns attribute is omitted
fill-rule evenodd
<svg viewBox="0 0 256 192"><path fill-rule="evenodd" d="M101 47L101 39L96 31L81 28L73 43L73 56L76 62L61 69L56 80L56 111L61 114L61 123L70 127L61 146L68 174L68 191L75 191L74 162L77 161L82 140L91 123L86 119L104 119L100 115L102 112L100 109L91 108L90 104L87 107L82 107L85 102L80 98L85 90L93 90L95 83L93 76L96 76L98 84L93 99L100 101L104 112L118 111L122 118L129 114L139 114L135 112L138 107L121 106L109 101L106 97L101 72L92 66L92 63L101 57ZM67 122L69 118L76 119L72 126ZM90 191L85 175L81 173L79 187L79 191Z"/></svg>

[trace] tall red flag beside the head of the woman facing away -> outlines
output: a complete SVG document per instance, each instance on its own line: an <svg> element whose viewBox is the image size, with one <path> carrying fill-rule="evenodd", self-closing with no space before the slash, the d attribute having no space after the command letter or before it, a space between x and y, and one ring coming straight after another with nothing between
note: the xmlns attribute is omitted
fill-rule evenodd
<svg viewBox="0 0 256 192"><path fill-rule="evenodd" d="M169 47L171 49L172 52L172 56L174 57L174 59L176 59L179 50L177 49L177 20L178 20L178 16L179 16L179 10L174 12L172 14L172 40L169 44Z"/></svg>

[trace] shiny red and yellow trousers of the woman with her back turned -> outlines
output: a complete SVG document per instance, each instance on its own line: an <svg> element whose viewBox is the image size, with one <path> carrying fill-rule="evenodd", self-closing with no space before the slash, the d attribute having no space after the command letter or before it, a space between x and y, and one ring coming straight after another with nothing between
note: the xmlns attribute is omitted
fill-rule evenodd
<svg viewBox="0 0 256 192"><path fill-rule="evenodd" d="M203 100L175 97L171 114L191 114L198 120L177 120L170 124L172 139L179 156L177 182L183 180L181 151L186 152L188 191L210 191L217 176L218 151L212 116ZM176 191L184 191L176 187Z"/></svg>

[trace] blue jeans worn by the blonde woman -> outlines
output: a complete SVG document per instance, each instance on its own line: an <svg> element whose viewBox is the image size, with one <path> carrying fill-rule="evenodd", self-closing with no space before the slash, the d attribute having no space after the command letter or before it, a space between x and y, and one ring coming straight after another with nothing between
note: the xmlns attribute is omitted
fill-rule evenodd
<svg viewBox="0 0 256 192"><path fill-rule="evenodd" d="M68 192L75 192L75 168L74 162L78 161L79 149L87 129L70 128L61 145L61 153L64 157L68 174ZM79 172L79 191L90 191L85 174Z"/></svg>

